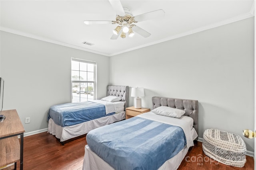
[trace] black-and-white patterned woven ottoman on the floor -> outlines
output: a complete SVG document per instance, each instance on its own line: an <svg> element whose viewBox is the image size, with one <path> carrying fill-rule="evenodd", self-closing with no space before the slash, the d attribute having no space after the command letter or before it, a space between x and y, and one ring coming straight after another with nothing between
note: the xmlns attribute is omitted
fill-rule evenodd
<svg viewBox="0 0 256 170"><path fill-rule="evenodd" d="M218 129L206 129L203 135L204 154L226 165L243 167L246 162L246 145L234 133Z"/></svg>

